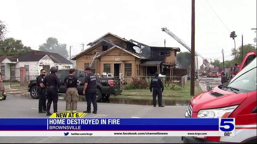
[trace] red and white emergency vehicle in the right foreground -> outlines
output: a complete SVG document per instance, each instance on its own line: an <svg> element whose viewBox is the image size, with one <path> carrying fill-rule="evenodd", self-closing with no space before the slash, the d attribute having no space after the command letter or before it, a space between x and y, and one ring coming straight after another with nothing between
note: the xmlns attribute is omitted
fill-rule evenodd
<svg viewBox="0 0 257 144"><path fill-rule="evenodd" d="M228 82L194 96L186 118L235 118L235 137L182 137L184 143L256 143L256 52L246 54Z"/></svg>

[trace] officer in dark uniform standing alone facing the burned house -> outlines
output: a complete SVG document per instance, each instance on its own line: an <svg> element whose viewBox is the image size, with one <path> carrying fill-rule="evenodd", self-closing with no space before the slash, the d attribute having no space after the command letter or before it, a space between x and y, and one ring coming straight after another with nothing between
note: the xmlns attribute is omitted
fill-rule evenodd
<svg viewBox="0 0 257 144"><path fill-rule="evenodd" d="M151 83L150 83L151 92L153 88L153 107L156 107L156 95L158 95L159 107L164 107L162 105L162 92L163 92L164 86L163 86L162 79L160 79L158 76L159 76L159 73L156 72L154 74L154 78L151 80Z"/></svg>

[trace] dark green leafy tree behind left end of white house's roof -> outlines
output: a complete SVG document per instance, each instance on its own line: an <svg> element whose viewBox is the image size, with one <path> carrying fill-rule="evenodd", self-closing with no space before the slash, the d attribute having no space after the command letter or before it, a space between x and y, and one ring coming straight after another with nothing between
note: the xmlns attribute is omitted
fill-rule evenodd
<svg viewBox="0 0 257 144"><path fill-rule="evenodd" d="M24 46L21 40L6 38L0 41L0 49L3 55L22 55L32 51L30 47Z"/></svg>

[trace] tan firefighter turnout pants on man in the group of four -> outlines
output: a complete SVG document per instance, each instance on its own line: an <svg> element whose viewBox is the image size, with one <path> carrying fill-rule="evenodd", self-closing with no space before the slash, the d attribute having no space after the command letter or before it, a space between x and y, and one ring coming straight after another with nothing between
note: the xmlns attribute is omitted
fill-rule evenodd
<svg viewBox="0 0 257 144"><path fill-rule="evenodd" d="M77 103L79 101L77 88L67 88L65 101L66 113L77 113Z"/></svg>

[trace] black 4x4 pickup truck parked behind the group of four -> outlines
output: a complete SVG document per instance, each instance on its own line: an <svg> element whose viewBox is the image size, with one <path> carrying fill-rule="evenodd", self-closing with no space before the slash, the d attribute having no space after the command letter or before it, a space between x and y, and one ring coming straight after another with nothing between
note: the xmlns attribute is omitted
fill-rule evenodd
<svg viewBox="0 0 257 144"><path fill-rule="evenodd" d="M59 94L65 94L65 87L64 87L64 79L66 76L68 76L69 70L59 70L57 72L57 76L59 77L61 81L61 86L59 88ZM76 76L78 77L79 81L82 83L78 86L78 93L79 95L83 95L83 87L85 83L85 76L86 73L83 70L77 70L75 71ZM96 101L101 101L102 98L108 99L110 95L119 95L122 92L122 89L120 89L120 79L119 78L113 78L113 77L98 77L97 78L97 98ZM36 86L36 79L32 79L29 81L28 86L28 92L30 92L30 96L32 98L38 99L38 93L37 93L37 86Z"/></svg>

